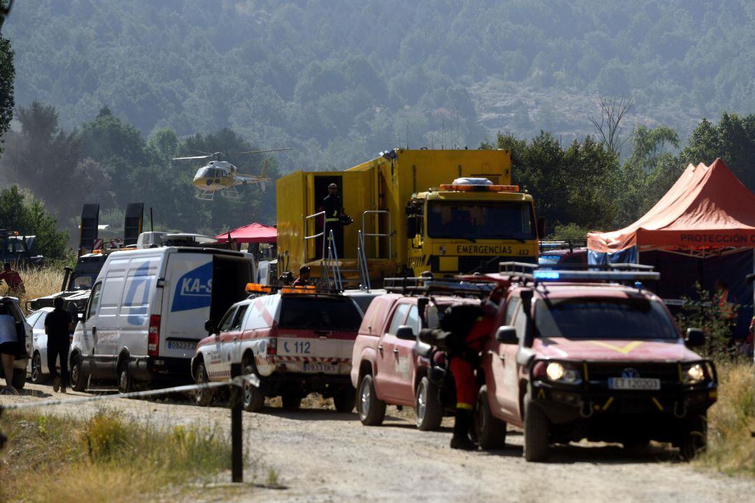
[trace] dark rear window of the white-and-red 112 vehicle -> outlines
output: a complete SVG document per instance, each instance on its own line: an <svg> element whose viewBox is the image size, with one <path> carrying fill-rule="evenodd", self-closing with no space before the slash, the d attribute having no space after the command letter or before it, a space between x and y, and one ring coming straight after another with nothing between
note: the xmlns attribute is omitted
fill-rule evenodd
<svg viewBox="0 0 755 503"><path fill-rule="evenodd" d="M280 328L299 330L359 330L362 315L351 299L314 296L283 298Z"/></svg>

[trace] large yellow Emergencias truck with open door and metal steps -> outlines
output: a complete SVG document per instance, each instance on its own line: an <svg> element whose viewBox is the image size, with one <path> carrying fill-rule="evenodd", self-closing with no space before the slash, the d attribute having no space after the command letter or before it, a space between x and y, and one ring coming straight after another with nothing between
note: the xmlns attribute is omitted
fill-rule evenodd
<svg viewBox="0 0 755 503"><path fill-rule="evenodd" d="M511 185L508 150L394 149L345 171L297 171L276 183L279 271L322 271L323 201L335 183L344 211L341 273L498 271L537 262L532 196ZM323 260L325 253L325 261Z"/></svg>

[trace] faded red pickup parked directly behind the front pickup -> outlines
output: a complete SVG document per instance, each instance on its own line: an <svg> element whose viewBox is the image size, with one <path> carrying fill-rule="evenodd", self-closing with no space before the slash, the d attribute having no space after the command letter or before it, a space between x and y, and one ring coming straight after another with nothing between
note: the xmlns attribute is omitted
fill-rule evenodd
<svg viewBox="0 0 755 503"><path fill-rule="evenodd" d="M425 312L422 326L417 297L387 293L370 304L354 341L351 382L356 388L356 409L364 425L380 425L387 404L414 407L417 428L439 427L445 409L438 385L430 376L430 346L418 345L415 334L438 325L445 306L479 302L476 299L438 296ZM426 347L423 347L426 346ZM440 356L440 354L438 354Z"/></svg>

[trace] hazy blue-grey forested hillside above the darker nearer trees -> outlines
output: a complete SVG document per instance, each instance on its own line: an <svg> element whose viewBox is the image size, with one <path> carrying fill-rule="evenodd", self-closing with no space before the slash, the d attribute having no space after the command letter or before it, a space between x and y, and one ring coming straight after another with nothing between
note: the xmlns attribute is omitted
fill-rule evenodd
<svg viewBox="0 0 755 503"><path fill-rule="evenodd" d="M47 0L17 2L5 32L17 103L63 127L102 106L146 134L231 127L295 147L288 170L497 130L584 136L598 93L686 136L755 110L753 17L748 0Z"/></svg>

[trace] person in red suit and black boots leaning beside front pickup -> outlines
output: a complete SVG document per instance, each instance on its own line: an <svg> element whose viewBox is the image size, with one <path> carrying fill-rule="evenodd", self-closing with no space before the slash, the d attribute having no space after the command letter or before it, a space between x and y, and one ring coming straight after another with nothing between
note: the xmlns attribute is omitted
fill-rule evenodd
<svg viewBox="0 0 755 503"><path fill-rule="evenodd" d="M477 400L475 370L479 367L479 353L485 346L486 339L493 332L494 318L495 305L492 302L484 302L482 312L473 321L464 339L464 351L451 356L449 367L456 385L456 419L454 436L451 437L451 449L476 448L469 437L474 404Z"/></svg>

